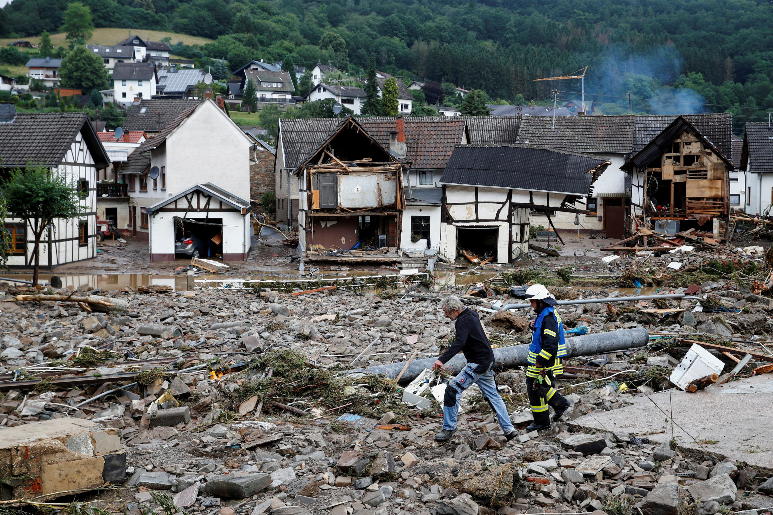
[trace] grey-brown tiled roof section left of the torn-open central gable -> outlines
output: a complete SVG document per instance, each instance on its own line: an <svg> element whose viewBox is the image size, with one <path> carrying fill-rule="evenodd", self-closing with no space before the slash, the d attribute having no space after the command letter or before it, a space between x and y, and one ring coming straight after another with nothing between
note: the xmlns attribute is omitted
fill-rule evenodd
<svg viewBox="0 0 773 515"><path fill-rule="evenodd" d="M297 168L338 130L346 118L279 120L284 167Z"/></svg>

